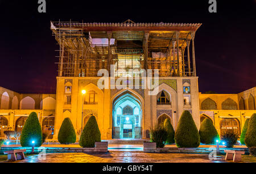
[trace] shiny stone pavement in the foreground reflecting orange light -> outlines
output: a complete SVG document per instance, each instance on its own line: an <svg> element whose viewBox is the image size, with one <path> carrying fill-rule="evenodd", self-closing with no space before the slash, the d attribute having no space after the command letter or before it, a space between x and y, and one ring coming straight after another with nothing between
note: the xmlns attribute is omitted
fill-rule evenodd
<svg viewBox="0 0 256 174"><path fill-rule="evenodd" d="M150 154L143 152L109 152L106 154L57 153L30 155L15 163L212 163L224 161L209 160L203 154Z"/></svg>

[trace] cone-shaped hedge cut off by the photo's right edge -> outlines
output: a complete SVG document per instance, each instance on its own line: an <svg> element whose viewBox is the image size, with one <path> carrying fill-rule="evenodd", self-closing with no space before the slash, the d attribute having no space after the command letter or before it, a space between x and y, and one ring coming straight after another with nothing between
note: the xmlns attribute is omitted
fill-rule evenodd
<svg viewBox="0 0 256 174"><path fill-rule="evenodd" d="M254 113L248 123L245 134L245 145L247 147L256 147L256 113Z"/></svg>

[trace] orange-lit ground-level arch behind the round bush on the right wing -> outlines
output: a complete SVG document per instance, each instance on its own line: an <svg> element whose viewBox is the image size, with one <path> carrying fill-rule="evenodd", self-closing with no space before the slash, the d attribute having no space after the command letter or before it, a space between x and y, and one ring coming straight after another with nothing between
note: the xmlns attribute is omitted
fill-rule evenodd
<svg viewBox="0 0 256 174"><path fill-rule="evenodd" d="M236 118L223 118L220 121L220 128L221 136L223 136L226 131L233 131L240 136L240 122Z"/></svg>

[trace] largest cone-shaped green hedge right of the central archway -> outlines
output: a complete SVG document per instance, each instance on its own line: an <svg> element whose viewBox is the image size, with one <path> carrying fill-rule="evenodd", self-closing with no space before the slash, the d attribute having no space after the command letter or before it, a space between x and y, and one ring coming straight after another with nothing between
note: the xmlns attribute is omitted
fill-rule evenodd
<svg viewBox="0 0 256 174"><path fill-rule="evenodd" d="M198 147L200 145L200 135L189 111L181 114L175 132L175 143L177 147Z"/></svg>

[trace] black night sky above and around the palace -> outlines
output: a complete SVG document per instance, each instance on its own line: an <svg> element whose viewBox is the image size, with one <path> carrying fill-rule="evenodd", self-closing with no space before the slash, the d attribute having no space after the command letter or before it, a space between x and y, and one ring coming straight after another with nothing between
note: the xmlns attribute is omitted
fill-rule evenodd
<svg viewBox="0 0 256 174"><path fill-rule="evenodd" d="M203 23L196 32L199 91L238 93L256 86L254 0L204 1L0 0L0 86L23 93L55 93L57 52L50 21Z"/></svg>

